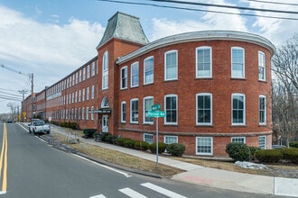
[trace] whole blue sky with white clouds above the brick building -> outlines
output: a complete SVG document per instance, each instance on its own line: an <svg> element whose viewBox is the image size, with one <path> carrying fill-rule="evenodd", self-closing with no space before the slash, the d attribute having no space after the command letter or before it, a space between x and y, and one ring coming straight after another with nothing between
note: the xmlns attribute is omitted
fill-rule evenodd
<svg viewBox="0 0 298 198"><path fill-rule="evenodd" d="M123 0L126 1L126 0ZM248 0L188 0L197 3L228 4L252 8L296 12L297 5L265 4ZM281 0L271 0L281 2ZM147 0L134 0L159 4ZM297 4L296 0L286 3ZM238 9L166 4L178 7L232 12L209 12L162 8L156 6L116 4L97 0L0 0L0 113L10 112L8 103L21 106L19 90L31 92L27 74L34 74L34 92L40 92L67 76L97 55L108 19L117 11L140 18L150 41L185 31L248 31L264 36L277 47L298 32L298 20L281 20L237 14L265 14ZM298 14L266 14L298 19Z"/></svg>

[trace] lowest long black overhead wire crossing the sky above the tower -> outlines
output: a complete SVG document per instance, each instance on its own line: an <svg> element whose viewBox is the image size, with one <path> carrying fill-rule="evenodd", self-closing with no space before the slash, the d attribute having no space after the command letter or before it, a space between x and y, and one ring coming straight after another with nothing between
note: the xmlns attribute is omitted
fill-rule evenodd
<svg viewBox="0 0 298 198"><path fill-rule="evenodd" d="M211 10L206 10L206 9L195 9L195 8L186 8L186 7L176 7L176 6L162 5L162 4L147 4L147 3L136 3L136 2L124 2L124 1L117 1L117 0L98 0L98 1L101 1L101 2L110 2L110 3L116 3L116 4L149 5L149 6L155 6L155 7L172 8L172 9L189 10L189 11L200 11L200 12L215 13L215 14L232 14L232 15L254 16L254 17L257 16L257 17L271 18L271 19L298 20L298 18L292 18L292 17L268 16L268 15L260 15L260 14L241 14L241 13L240 14L236 14L236 13L230 13L230 12L211 11Z"/></svg>

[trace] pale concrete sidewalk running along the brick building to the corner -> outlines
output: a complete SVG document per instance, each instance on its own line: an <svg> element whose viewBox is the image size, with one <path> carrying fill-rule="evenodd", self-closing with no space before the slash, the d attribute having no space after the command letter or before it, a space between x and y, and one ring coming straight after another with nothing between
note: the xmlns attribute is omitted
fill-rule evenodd
<svg viewBox="0 0 298 198"><path fill-rule="evenodd" d="M51 127L51 132L65 134L67 131L60 127L53 126ZM145 153L130 148L123 148L112 144L96 142L94 139L80 139L80 141L103 148L114 149L131 156L142 157L156 162L156 156L150 153ZM298 197L298 178L293 179L242 174L216 168L197 166L161 156L158 157L158 162L159 164L173 166L185 170L185 172L182 174L173 175L173 180L239 192Z"/></svg>

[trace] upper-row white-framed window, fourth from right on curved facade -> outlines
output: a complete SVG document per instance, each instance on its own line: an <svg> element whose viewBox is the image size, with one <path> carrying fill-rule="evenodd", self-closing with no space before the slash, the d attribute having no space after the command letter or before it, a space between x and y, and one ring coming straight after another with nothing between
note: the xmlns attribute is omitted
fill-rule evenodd
<svg viewBox="0 0 298 198"><path fill-rule="evenodd" d="M176 80L178 78L178 52L167 51L164 54L164 80Z"/></svg>

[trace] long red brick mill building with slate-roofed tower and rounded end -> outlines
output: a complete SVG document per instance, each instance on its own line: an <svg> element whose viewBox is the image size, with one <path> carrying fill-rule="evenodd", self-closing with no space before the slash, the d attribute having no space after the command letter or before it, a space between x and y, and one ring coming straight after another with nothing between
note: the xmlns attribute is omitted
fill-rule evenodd
<svg viewBox="0 0 298 198"><path fill-rule="evenodd" d="M271 148L275 46L240 31L195 31L149 42L138 18L116 13L98 56L46 90L47 118L116 136L179 142L186 154L227 156L231 141Z"/></svg>

